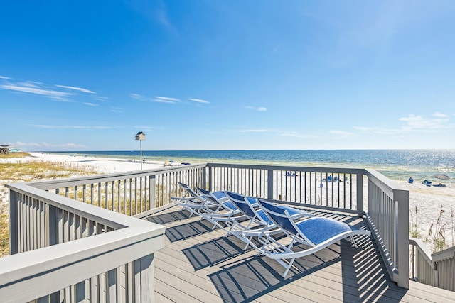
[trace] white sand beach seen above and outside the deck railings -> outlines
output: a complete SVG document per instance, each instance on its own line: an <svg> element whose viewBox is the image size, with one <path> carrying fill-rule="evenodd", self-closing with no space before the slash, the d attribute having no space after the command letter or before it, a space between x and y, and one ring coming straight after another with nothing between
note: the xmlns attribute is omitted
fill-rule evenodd
<svg viewBox="0 0 455 303"><path fill-rule="evenodd" d="M100 174L113 172L128 172L140 170L140 162L119 158L83 157L80 155L58 155L50 153L30 153L26 158L5 158L1 162L29 162L29 161L50 161L60 162L68 166L85 167ZM161 161L145 161L142 164L143 170L156 167L163 167ZM173 163L178 165L178 163ZM8 195L3 187L5 180L1 180L0 209L8 203ZM421 237L424 239L432 224L436 224L441 209L444 209L443 224L446 224L446 241L452 241L451 231L454 226L454 219L451 218L451 211L455 211L455 188L451 187L427 187L419 180L414 184L399 181L402 187L410 191L410 223L415 223L415 208L417 206L417 226ZM364 192L366 192L366 184Z"/></svg>

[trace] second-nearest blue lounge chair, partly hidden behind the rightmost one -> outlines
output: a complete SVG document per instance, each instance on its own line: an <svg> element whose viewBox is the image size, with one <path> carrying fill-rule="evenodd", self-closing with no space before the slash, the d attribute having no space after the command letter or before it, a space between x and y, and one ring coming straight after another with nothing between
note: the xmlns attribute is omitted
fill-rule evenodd
<svg viewBox="0 0 455 303"><path fill-rule="evenodd" d="M259 207L257 200L252 197L245 197L235 192L225 192L232 203L237 206L242 214L247 217L247 221L228 221L227 224L230 226L228 234L236 236L240 240L246 243L244 248L252 246L259 249L258 246L252 242L252 238L257 237L259 243L269 243L274 241L271 238L278 233L282 233L282 229L273 223L269 216ZM287 209L293 219L301 219L309 216L314 216L306 211L294 209L287 206L279 206L282 209Z"/></svg>

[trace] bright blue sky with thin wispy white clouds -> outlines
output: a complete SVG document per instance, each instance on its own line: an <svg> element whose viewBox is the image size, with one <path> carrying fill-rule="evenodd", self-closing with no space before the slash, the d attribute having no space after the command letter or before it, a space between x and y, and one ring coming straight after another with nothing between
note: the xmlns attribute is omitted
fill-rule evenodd
<svg viewBox="0 0 455 303"><path fill-rule="evenodd" d="M455 1L4 1L0 143L455 148Z"/></svg>

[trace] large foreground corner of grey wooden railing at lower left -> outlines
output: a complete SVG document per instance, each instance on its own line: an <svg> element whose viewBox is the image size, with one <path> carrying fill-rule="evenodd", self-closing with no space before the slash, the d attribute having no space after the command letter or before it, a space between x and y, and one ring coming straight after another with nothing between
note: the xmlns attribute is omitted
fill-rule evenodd
<svg viewBox="0 0 455 303"><path fill-rule="evenodd" d="M10 184L1 302L150 302L164 226Z"/></svg>

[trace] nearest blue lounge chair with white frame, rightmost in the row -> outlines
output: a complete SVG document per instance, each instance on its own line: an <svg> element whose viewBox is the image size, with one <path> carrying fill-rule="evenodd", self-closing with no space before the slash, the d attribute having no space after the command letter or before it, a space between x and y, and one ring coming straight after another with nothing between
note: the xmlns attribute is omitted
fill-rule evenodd
<svg viewBox="0 0 455 303"><path fill-rule="evenodd" d="M353 236L370 235L370 231L323 217L314 216L296 222L291 214L289 214L289 210L281 209L261 199L257 199L257 202L265 214L269 216L269 219L282 228L282 231L291 238L291 243L287 246L277 245L277 243L265 243L264 246L258 249L262 255L277 260L279 264L284 266L285 271L283 277L287 276L296 258L316 253L343 238L350 238L355 247L358 247ZM310 248L294 251L292 249L295 243L304 243L310 246Z"/></svg>

